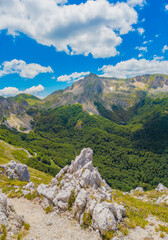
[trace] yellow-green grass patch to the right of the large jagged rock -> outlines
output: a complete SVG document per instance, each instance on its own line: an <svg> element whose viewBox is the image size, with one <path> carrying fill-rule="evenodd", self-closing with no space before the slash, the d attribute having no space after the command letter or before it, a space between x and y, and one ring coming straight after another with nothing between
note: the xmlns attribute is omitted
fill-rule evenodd
<svg viewBox="0 0 168 240"><path fill-rule="evenodd" d="M138 193L136 193L137 195ZM159 193L149 191L146 194L150 198L158 197ZM162 193L161 193L162 194ZM118 225L118 229L123 235L128 235L129 229L134 229L137 226L145 228L148 225L147 217L150 215L155 216L158 220L168 223L168 208L164 205L157 205L152 202L143 202L133 196L125 195L121 191L113 192L113 199L118 203L125 206L126 218ZM156 229L161 232L168 233L168 228L162 225Z"/></svg>

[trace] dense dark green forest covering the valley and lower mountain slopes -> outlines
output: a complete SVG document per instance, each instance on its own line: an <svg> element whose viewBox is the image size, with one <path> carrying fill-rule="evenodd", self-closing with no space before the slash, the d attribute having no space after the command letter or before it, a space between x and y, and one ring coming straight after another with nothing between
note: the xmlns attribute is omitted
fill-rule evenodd
<svg viewBox="0 0 168 240"><path fill-rule="evenodd" d="M1 127L0 138L31 150L32 158L17 153L17 159L52 176L82 148L90 147L94 165L112 188L150 190L160 182L168 187L168 98L145 98L127 114L113 109L120 125L90 116L79 104L38 110L34 131L25 134Z"/></svg>

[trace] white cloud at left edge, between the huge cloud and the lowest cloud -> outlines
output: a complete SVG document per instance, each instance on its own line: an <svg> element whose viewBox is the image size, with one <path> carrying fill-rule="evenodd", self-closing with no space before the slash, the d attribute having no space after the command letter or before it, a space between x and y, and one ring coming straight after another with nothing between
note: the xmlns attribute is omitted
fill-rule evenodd
<svg viewBox="0 0 168 240"><path fill-rule="evenodd" d="M51 67L42 67L39 64L27 64L23 60L13 59L12 61L5 61L0 65L0 77L8 74L17 73L23 78L34 78L39 73L51 73Z"/></svg>

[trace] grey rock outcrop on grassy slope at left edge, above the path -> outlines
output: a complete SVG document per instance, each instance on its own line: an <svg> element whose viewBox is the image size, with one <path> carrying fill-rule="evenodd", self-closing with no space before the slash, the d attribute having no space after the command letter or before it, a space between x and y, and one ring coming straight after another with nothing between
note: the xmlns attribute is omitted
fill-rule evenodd
<svg viewBox="0 0 168 240"><path fill-rule="evenodd" d="M10 161L8 164L0 165L0 168L4 170L4 174L9 179L18 179L20 181L29 182L30 174L27 165Z"/></svg>

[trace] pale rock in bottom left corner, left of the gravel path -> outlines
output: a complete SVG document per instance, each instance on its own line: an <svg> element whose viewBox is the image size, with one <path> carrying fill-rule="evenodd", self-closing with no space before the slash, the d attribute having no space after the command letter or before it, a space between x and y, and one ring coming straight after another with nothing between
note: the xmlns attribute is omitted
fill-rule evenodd
<svg viewBox="0 0 168 240"><path fill-rule="evenodd" d="M14 207L8 204L6 195L0 192L0 226L6 226L8 236L12 236L20 231L23 224L23 217L16 214Z"/></svg>

